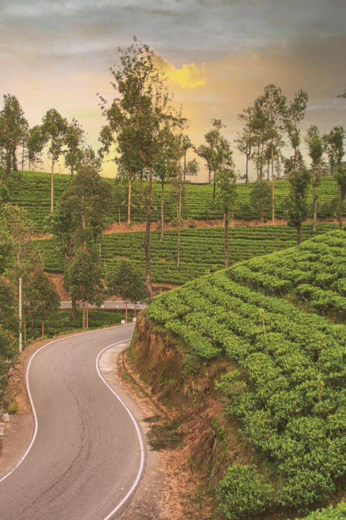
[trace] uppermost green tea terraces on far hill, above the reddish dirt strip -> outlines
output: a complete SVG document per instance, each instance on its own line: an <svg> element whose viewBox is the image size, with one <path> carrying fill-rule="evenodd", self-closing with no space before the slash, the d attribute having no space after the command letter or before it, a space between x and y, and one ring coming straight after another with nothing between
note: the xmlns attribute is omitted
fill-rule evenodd
<svg viewBox="0 0 346 520"><path fill-rule="evenodd" d="M62 192L70 185L69 175L54 176L54 196L57 202ZM118 220L120 217L126 220L126 204L116 202L116 192L120 200L127 200L126 186L115 183L114 179L106 179L113 191L113 203L109 209L108 222ZM237 219L252 220L256 218L250 203L250 193L252 183L239 184L239 203L238 209L234 213ZM50 208L50 174L40 172L18 172L13 173L8 181L10 200L13 204L24 207L29 213L30 218L35 223L37 231L44 230L45 218L49 215ZM212 186L211 185L187 185L184 197L184 217L191 219L219 219L223 217L222 208L216 204L212 209ZM328 202L337 196L337 185L333 177L323 177L318 188L319 193L319 217L323 218L330 215ZM161 186L154 183L153 187L153 221L160 219L160 193ZM283 202L288 196L288 183L285 180L275 183L276 217L285 218ZM311 198L311 193L310 193ZM346 210L345 210L346 211ZM134 222L144 222L145 211L140 204L133 208L132 218ZM173 199L173 188L168 185L165 196L165 218L172 221L176 218L176 205Z"/></svg>

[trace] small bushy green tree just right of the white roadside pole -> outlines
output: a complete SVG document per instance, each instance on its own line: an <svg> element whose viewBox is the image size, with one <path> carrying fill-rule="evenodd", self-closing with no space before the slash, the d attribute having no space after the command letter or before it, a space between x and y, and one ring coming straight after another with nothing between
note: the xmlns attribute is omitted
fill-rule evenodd
<svg viewBox="0 0 346 520"><path fill-rule="evenodd" d="M23 283L23 309L31 318L32 338L35 337L35 319L42 324L42 335L45 334L44 322L60 307L60 297L56 286L49 280L42 266L38 265Z"/></svg>

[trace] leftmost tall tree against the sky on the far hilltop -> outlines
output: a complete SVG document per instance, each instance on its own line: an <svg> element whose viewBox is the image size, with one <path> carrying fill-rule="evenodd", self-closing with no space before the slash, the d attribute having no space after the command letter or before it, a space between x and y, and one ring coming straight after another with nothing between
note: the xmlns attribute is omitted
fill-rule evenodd
<svg viewBox="0 0 346 520"><path fill-rule="evenodd" d="M27 121L16 96L4 95L0 112L0 149L4 151L6 177L17 168L16 150L21 142Z"/></svg>

